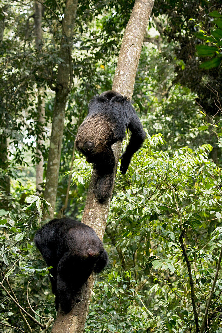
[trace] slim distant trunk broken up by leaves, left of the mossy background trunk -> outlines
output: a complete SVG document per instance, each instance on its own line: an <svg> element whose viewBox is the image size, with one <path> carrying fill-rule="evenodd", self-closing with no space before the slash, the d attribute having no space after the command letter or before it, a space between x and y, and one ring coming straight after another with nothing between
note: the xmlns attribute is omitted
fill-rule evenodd
<svg viewBox="0 0 222 333"><path fill-rule="evenodd" d="M42 2L40 0L40 2ZM42 12L43 6L40 2L35 1L34 8L35 8L35 46L36 49L41 48L42 44ZM43 3L43 2L42 2ZM45 99L41 96L41 89L38 89L38 123L41 124L41 127L44 126L45 123ZM42 194L42 183L43 183L43 155L41 151L41 146L43 144L43 140L41 138L37 138L36 140L36 156L39 159L39 162L36 163L36 194Z"/></svg>

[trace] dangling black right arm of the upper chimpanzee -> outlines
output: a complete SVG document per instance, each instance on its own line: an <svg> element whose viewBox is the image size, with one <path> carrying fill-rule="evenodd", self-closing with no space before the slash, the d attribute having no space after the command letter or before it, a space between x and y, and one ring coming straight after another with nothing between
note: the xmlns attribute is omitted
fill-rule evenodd
<svg viewBox="0 0 222 333"><path fill-rule="evenodd" d="M141 147L146 137L139 117L132 106L130 108L130 121L128 129L132 132L132 134L126 150L121 156L120 170L123 174L126 173L133 154Z"/></svg>

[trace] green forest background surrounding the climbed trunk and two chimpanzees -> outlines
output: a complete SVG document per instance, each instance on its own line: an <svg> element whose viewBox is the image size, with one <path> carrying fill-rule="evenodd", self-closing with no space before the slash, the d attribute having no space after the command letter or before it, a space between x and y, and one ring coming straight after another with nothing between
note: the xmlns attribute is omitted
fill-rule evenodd
<svg viewBox="0 0 222 333"><path fill-rule="evenodd" d="M74 141L112 90L134 3L0 3L1 333L52 331L33 238L50 218L82 219L93 166ZM84 332L222 332L221 82L219 1L154 2L132 96L146 139L117 168Z"/></svg>

